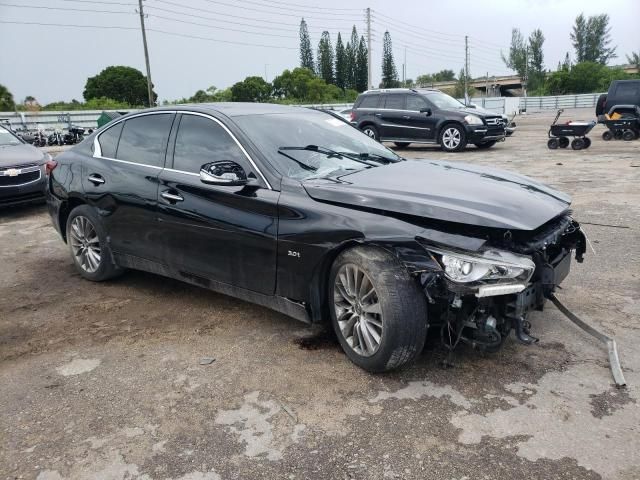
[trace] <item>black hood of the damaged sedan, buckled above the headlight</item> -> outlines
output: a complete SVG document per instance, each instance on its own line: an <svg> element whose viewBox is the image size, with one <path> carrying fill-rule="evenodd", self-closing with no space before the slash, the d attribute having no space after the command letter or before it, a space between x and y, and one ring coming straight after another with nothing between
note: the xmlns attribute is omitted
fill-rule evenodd
<svg viewBox="0 0 640 480"><path fill-rule="evenodd" d="M307 180L319 201L481 227L534 230L565 212L571 197L522 175L458 162L408 160Z"/></svg>

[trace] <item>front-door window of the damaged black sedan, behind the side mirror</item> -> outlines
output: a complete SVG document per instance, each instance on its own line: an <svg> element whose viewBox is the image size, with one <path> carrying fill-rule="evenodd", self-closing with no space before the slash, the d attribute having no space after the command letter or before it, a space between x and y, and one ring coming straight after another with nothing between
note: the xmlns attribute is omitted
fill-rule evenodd
<svg viewBox="0 0 640 480"><path fill-rule="evenodd" d="M248 168L247 157L224 128L205 117L182 115L176 135L173 168L198 173L205 163L220 160L233 160Z"/></svg>

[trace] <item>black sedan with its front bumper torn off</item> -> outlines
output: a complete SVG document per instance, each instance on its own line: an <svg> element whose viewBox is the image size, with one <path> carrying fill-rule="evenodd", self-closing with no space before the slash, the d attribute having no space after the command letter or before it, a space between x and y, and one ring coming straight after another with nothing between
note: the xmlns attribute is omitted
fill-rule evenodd
<svg viewBox="0 0 640 480"><path fill-rule="evenodd" d="M326 112L268 104L118 118L56 158L53 224L92 281L139 269L330 321L399 367L427 336L497 350L578 261L570 198L513 173L405 160Z"/></svg>

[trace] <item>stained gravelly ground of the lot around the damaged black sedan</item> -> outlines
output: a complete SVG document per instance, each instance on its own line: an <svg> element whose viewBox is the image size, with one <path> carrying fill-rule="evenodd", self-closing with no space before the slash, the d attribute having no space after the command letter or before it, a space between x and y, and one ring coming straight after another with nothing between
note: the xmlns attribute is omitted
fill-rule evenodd
<svg viewBox="0 0 640 480"><path fill-rule="evenodd" d="M84 281L44 208L13 209L0 212L0 478L640 478L640 141L605 143L598 127L589 150L550 151L552 118L518 118L489 151L403 153L573 195L593 248L559 297L616 337L626 390L552 305L532 315L534 346L462 348L445 370L431 341L414 366L370 375L261 307L145 273Z"/></svg>

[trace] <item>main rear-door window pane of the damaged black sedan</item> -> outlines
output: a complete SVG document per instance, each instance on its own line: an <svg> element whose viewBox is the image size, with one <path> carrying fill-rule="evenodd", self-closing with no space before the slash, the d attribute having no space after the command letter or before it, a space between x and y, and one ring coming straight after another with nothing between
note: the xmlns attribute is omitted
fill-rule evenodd
<svg viewBox="0 0 640 480"><path fill-rule="evenodd" d="M162 113L134 117L123 122L124 127L115 158L163 167L172 121L172 113Z"/></svg>

